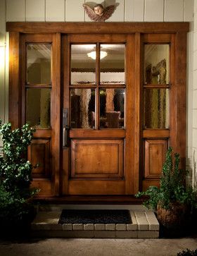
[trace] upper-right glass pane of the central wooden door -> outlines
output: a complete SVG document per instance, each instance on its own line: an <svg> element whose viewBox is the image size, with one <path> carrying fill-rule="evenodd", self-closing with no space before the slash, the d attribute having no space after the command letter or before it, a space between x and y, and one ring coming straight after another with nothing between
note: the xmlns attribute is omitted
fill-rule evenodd
<svg viewBox="0 0 197 256"><path fill-rule="evenodd" d="M125 44L101 44L100 55L101 84L125 84Z"/></svg>

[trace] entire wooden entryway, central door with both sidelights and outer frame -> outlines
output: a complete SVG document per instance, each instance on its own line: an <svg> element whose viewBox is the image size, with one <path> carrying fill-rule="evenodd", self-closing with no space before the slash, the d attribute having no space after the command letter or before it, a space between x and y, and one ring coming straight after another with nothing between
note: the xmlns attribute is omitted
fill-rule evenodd
<svg viewBox="0 0 197 256"><path fill-rule="evenodd" d="M36 128L28 159L42 200L136 202L159 184L169 146L185 168L189 23L7 30L9 120Z"/></svg>

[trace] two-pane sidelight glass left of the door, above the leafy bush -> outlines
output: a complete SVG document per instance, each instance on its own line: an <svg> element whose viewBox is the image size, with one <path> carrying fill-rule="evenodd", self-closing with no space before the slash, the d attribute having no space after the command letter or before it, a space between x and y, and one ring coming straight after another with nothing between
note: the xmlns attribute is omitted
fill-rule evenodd
<svg viewBox="0 0 197 256"><path fill-rule="evenodd" d="M26 45L25 120L37 129L51 128L51 44Z"/></svg>

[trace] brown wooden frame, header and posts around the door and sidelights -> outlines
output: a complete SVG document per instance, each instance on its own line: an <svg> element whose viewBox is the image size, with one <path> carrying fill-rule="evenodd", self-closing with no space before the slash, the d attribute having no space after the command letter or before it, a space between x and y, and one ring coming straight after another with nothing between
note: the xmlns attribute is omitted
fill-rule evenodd
<svg viewBox="0 0 197 256"><path fill-rule="evenodd" d="M56 78L53 78L53 83L56 85L56 95L61 93L61 34L134 34L135 36L135 83L133 90L135 95L135 109L132 109L134 115L134 137L135 147L130 150L130 154L135 154L134 166L138 166L135 171L134 184L135 191L139 189L139 169L141 143L144 137L153 138L151 130L142 130L141 126L141 93L142 93L142 68L141 68L141 38L144 34L171 34L172 49L174 54L171 56L171 62L174 63L173 83L174 86L170 96L170 131L158 131L157 138L170 138L170 145L174 148L174 152L179 152L181 157L181 166L185 167L186 159L186 33L189 32L189 23L21 23L8 22L6 23L6 31L9 32L9 121L13 128L21 126L23 123L23 109L21 104L21 77L20 77L20 45L22 34L53 34L56 42L54 68L56 68ZM148 37L148 35L147 35ZM182 71L182 72L179 72ZM56 101L56 99L52 99ZM56 116L61 121L61 102L58 99L56 103ZM182 116L182 118L179 118ZM54 117L55 118L55 117ZM56 129L60 130L61 123L56 122ZM54 152L57 152L57 157L53 162L53 195L48 198L50 202L57 202L54 196L59 193L59 170L60 166L60 139L57 134ZM130 177L132 178L132 177ZM59 197L60 202L139 202L132 196L114 196L114 197ZM43 197L46 200L46 197Z"/></svg>

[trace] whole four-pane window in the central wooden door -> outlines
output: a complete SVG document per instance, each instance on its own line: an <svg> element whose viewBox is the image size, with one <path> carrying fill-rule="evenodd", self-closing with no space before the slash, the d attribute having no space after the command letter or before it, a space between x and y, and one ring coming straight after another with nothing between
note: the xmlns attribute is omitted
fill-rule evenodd
<svg viewBox="0 0 197 256"><path fill-rule="evenodd" d="M125 44L71 44L70 51L70 128L124 128Z"/></svg>

